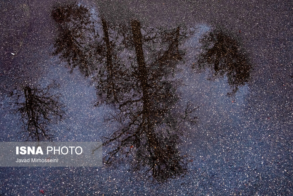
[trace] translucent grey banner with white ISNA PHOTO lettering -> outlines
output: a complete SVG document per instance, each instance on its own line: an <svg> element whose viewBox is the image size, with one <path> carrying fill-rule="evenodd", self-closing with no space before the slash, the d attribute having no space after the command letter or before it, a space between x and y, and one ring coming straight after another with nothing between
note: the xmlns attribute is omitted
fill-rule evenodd
<svg viewBox="0 0 293 196"><path fill-rule="evenodd" d="M101 142L0 142L0 167L99 167Z"/></svg>

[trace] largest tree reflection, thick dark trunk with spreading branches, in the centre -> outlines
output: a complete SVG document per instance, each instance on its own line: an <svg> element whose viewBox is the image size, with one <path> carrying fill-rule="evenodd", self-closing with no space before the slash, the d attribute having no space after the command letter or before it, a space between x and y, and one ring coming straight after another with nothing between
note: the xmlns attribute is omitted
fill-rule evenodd
<svg viewBox="0 0 293 196"><path fill-rule="evenodd" d="M113 163L131 156L132 169L164 181L185 173L186 160L178 151L178 141L184 131L183 124L196 121L192 104L186 106L183 113L176 108L179 81L172 79L172 73L181 60L180 28L168 34L161 32L160 40L164 37L162 42L167 47L157 51L156 58L149 64L144 58L139 21L131 21L131 32L132 40L128 41L134 44L136 62L132 62L132 75L135 79L130 84L124 81L124 86L131 86L132 91L120 98L118 112L113 115L112 120L120 122L122 128L107 138L105 145L113 144L114 148L105 162Z"/></svg>

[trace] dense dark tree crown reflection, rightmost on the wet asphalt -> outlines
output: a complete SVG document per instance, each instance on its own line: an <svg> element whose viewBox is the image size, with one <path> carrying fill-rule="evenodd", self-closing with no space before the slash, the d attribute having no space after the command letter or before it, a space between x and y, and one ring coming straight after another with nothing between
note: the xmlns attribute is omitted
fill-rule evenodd
<svg viewBox="0 0 293 196"><path fill-rule="evenodd" d="M251 64L248 62L246 54L241 51L235 38L224 33L219 28L211 31L200 39L202 53L199 55L197 65L193 68L204 70L209 68L210 78L228 78L231 92L228 96L235 96L239 86L248 82L251 71Z"/></svg>

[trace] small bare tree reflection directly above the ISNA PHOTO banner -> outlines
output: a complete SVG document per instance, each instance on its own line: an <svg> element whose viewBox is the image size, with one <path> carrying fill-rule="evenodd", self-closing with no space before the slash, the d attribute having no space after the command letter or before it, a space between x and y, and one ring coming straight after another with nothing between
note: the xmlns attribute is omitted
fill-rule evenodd
<svg viewBox="0 0 293 196"><path fill-rule="evenodd" d="M50 88L55 87L54 84L45 89L25 86L10 93L10 97L15 100L10 103L12 111L21 114L22 132L27 139L52 140L53 135L47 126L63 119L65 107L59 101L60 95L49 92Z"/></svg>

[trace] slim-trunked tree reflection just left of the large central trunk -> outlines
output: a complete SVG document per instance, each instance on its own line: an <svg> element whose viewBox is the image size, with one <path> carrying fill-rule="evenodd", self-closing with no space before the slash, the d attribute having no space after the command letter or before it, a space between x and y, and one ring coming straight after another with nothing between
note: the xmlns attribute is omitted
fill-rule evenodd
<svg viewBox="0 0 293 196"><path fill-rule="evenodd" d="M100 65L98 73L94 76L97 89L96 105L115 104L129 90L123 88L123 82L130 83L133 78L128 73L127 65L118 57L123 48L116 45L119 36L115 32L115 26L111 27L103 16L100 17L100 24L103 29L103 46L106 48L106 53L103 57L105 63Z"/></svg>

